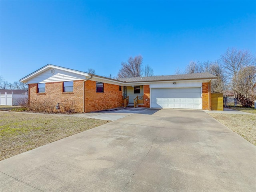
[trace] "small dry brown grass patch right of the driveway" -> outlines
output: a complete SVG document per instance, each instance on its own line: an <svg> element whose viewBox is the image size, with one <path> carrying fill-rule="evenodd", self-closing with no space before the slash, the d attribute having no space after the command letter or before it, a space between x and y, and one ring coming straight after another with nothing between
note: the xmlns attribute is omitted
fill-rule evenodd
<svg viewBox="0 0 256 192"><path fill-rule="evenodd" d="M249 112L249 111L244 111ZM256 110L250 110L255 113ZM256 145L256 115L218 114L210 113L210 116L226 125L228 128Z"/></svg>

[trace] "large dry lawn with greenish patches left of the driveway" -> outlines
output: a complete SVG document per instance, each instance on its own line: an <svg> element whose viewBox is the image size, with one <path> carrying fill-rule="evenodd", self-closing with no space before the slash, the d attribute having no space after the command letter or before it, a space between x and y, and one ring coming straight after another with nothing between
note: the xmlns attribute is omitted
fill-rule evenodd
<svg viewBox="0 0 256 192"><path fill-rule="evenodd" d="M110 121L56 114L0 112L0 160Z"/></svg>

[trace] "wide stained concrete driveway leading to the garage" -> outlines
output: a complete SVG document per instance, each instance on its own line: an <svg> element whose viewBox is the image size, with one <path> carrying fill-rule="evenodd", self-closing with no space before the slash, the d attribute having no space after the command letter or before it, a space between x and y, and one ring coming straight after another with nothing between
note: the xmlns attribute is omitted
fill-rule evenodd
<svg viewBox="0 0 256 192"><path fill-rule="evenodd" d="M2 160L0 189L256 191L250 142L202 110L143 113Z"/></svg>

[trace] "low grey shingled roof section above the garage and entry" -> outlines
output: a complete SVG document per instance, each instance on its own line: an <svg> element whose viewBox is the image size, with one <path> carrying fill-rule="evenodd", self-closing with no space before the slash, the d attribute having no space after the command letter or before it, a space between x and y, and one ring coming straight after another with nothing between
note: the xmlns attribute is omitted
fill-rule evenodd
<svg viewBox="0 0 256 192"><path fill-rule="evenodd" d="M118 78L124 82L146 82L146 81L168 81L168 80L196 80L196 79L216 79L217 77L208 72L205 73L192 73L180 75L162 75L151 77L133 77L133 78Z"/></svg>

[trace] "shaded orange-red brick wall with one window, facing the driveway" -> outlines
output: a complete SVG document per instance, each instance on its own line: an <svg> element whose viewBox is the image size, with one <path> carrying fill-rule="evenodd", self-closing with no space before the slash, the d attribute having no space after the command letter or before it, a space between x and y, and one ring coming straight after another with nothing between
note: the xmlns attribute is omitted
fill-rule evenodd
<svg viewBox="0 0 256 192"><path fill-rule="evenodd" d="M85 112L106 110L122 106L122 91L118 85L104 83L104 92L96 92L96 82L85 82Z"/></svg>

